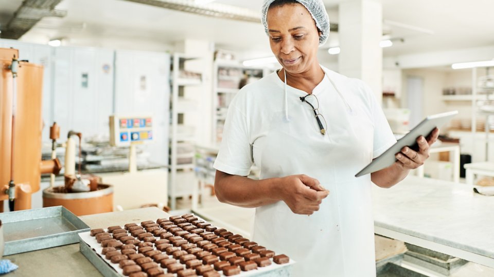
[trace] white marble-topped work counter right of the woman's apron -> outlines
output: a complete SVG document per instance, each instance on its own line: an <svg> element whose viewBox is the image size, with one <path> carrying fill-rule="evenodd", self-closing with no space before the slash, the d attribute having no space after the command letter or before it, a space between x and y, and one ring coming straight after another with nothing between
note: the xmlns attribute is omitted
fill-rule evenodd
<svg viewBox="0 0 494 277"><path fill-rule="evenodd" d="M375 233L494 268L494 196L409 176L373 187Z"/></svg>

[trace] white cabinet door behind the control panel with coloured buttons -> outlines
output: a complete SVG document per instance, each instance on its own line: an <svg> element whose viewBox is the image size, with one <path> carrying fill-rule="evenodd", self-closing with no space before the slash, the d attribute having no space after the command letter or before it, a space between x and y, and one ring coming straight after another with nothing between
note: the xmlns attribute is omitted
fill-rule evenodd
<svg viewBox="0 0 494 277"><path fill-rule="evenodd" d="M170 56L166 53L116 51L115 113L152 115L153 142L146 145L150 160L168 163Z"/></svg>

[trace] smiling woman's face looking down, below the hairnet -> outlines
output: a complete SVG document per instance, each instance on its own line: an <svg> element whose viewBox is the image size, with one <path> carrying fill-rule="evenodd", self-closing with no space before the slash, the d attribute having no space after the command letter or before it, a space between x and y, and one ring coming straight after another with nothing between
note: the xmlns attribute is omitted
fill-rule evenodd
<svg viewBox="0 0 494 277"><path fill-rule="evenodd" d="M319 32L302 4L270 8L267 20L271 51L287 72L305 72L317 64Z"/></svg>

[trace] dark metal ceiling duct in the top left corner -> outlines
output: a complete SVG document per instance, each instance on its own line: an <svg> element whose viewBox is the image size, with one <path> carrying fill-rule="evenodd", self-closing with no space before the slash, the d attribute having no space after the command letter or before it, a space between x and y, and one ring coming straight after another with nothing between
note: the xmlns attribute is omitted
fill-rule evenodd
<svg viewBox="0 0 494 277"><path fill-rule="evenodd" d="M45 16L64 17L67 12L56 10L62 0L24 0L14 17L2 30L2 38L19 39Z"/></svg>

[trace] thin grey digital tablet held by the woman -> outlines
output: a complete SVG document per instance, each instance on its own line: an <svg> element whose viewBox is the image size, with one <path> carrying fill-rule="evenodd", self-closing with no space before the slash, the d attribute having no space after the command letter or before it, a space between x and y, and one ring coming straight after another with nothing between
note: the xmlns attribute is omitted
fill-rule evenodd
<svg viewBox="0 0 494 277"><path fill-rule="evenodd" d="M393 146L387 149L384 153L378 156L376 159L372 161L372 163L368 164L364 169L362 169L356 177L360 177L362 175L379 171L383 168L389 167L394 164L397 160L395 155L401 151L401 149L405 146L410 147L411 149L417 151L417 137L424 136L427 138L429 134L434 130L434 128L442 127L446 122L450 121L453 116L455 116L458 111L451 111L445 113L439 113L434 115L429 115L420 122L415 128L413 128L409 133L400 138Z"/></svg>

